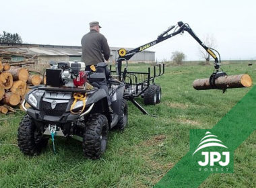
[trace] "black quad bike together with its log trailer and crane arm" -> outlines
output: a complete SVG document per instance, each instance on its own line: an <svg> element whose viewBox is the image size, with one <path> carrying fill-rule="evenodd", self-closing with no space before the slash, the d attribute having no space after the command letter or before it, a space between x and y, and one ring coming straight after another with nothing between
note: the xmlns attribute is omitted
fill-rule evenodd
<svg viewBox="0 0 256 188"><path fill-rule="evenodd" d="M216 72L210 77L211 85L215 85L214 81L218 77L226 76L214 54L216 50L205 46L187 23L180 21L174 28L175 26L171 26L156 40L128 52L120 49L115 71L108 72L104 62L97 64L96 70L92 68L91 73L85 71L84 62L52 64L50 69L46 69L46 85L30 87L32 90L22 103L27 115L18 128L20 150L27 155L39 154L47 145L50 136L53 139L53 146L54 137L63 136L81 141L85 156L99 158L106 150L108 130L124 130L127 125L127 100L142 113L149 115L135 98L143 97L146 105L154 105L161 99L161 87L154 83L154 79L164 74L164 64L158 65L158 74L156 66L153 74L150 68L148 73L131 72L127 70L128 60L137 52L184 31L214 58ZM172 29L174 32L168 34ZM218 55L220 59L220 54ZM126 66L122 71L123 61L126 62ZM94 87L86 87L88 82ZM25 107L26 103L30 107Z"/></svg>

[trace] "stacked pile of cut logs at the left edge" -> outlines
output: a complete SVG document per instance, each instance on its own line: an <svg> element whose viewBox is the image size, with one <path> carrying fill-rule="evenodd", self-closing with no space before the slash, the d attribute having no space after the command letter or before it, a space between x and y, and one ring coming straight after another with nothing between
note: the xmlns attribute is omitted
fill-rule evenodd
<svg viewBox="0 0 256 188"><path fill-rule="evenodd" d="M40 75L32 75L28 68L22 67L22 65L34 64L36 60L34 56L26 55L25 51L13 51L13 48L19 47L1 46L0 48L0 113L22 109L20 105L29 91L29 86L39 85L42 82ZM24 60L12 61L11 56L17 55L23 56Z"/></svg>

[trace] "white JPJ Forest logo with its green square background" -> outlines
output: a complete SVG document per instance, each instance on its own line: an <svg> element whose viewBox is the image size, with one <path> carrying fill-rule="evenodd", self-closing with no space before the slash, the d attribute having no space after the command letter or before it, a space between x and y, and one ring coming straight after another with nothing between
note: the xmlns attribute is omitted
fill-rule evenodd
<svg viewBox="0 0 256 188"><path fill-rule="evenodd" d="M233 152L215 134L205 130L195 131L192 135L192 162L197 171L212 173L233 172ZM205 134L201 134L201 132ZM197 144L195 142L197 141ZM198 144L199 143L199 144Z"/></svg>

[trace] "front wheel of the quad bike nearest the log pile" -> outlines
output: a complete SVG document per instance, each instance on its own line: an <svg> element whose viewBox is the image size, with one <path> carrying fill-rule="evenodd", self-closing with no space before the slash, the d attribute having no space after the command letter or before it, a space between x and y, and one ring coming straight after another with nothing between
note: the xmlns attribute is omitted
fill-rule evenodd
<svg viewBox="0 0 256 188"><path fill-rule="evenodd" d="M36 129L34 121L29 115L25 115L18 128L18 146L26 155L40 154L43 148L48 144L49 138L44 137Z"/></svg>

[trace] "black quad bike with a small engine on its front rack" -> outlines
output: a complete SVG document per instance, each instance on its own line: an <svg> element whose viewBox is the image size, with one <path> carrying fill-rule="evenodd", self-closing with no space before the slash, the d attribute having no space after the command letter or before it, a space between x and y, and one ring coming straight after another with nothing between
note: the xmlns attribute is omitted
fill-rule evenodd
<svg viewBox="0 0 256 188"><path fill-rule="evenodd" d="M125 129L125 84L109 78L104 62L94 73L84 70L84 62L59 62L46 70L46 85L31 87L23 103L27 115L18 128L18 146L24 154L39 154L50 136L63 136L81 141L85 156L99 158L106 150L108 130ZM86 74L95 87L86 88ZM108 87L111 112L106 91L98 83Z"/></svg>

